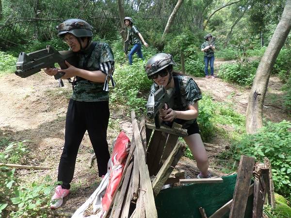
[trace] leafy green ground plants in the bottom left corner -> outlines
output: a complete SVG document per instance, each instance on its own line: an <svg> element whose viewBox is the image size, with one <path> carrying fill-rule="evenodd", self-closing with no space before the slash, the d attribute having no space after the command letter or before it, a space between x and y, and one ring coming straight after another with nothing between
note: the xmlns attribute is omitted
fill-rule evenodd
<svg viewBox="0 0 291 218"><path fill-rule="evenodd" d="M25 146L27 141L10 142L0 141L0 162L21 163L23 156L28 154ZM0 218L7 216L19 217L47 217L46 208L50 202L52 180L45 177L39 184L33 182L23 185L17 178L15 169L11 170L5 166L0 167Z"/></svg>

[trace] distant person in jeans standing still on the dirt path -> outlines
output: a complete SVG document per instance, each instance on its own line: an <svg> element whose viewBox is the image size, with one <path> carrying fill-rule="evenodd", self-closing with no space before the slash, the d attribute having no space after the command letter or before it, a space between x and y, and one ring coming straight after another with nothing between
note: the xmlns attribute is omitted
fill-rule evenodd
<svg viewBox="0 0 291 218"><path fill-rule="evenodd" d="M201 51L204 52L204 63L205 63L205 78L215 78L214 77L214 50L215 43L212 40L212 35L207 34L204 36L206 42L201 45ZM210 76L208 76L208 63L210 64Z"/></svg>

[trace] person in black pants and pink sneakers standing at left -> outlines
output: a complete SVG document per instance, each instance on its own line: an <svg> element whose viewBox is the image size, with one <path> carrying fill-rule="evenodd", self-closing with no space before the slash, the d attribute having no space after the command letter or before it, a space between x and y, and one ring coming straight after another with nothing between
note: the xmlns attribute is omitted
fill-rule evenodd
<svg viewBox="0 0 291 218"><path fill-rule="evenodd" d="M110 158L107 143L109 121L108 82L113 82L114 59L107 43L93 42L93 27L81 19L68 19L57 27L58 36L76 53L78 64L67 69L46 68L49 76L65 73L63 79L74 78L73 94L65 120L65 145L59 163L58 181L51 209L60 207L70 192L79 146L86 130L97 158L98 175L107 173Z"/></svg>

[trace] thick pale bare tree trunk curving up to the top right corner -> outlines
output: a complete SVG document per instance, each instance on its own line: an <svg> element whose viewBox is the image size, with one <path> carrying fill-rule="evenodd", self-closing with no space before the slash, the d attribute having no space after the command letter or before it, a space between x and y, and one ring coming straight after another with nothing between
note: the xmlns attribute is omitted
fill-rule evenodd
<svg viewBox="0 0 291 218"><path fill-rule="evenodd" d="M246 109L246 131L254 134L263 126L262 109L271 69L291 30L291 0L286 0L282 17L259 62Z"/></svg>

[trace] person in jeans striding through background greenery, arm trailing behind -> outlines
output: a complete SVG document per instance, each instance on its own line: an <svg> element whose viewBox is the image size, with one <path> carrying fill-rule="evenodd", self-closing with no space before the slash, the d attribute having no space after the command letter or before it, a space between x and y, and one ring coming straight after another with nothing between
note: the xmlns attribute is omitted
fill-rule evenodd
<svg viewBox="0 0 291 218"><path fill-rule="evenodd" d="M148 44L144 40L142 34L138 31L136 26L133 26L132 18L129 16L124 17L124 24L128 28L128 36L127 40L129 40L129 44L133 47L129 52L129 64L132 64L132 56L134 53L137 53L138 57L144 60L144 56L142 53L142 42L145 47L148 47Z"/></svg>

